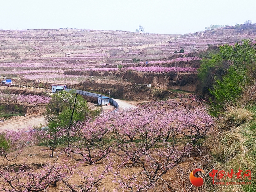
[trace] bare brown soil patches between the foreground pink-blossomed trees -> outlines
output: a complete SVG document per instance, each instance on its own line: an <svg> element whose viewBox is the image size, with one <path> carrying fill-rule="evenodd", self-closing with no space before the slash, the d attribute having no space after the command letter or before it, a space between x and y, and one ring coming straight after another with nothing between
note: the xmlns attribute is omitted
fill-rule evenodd
<svg viewBox="0 0 256 192"><path fill-rule="evenodd" d="M15 169L15 168L18 169L20 166L24 164L25 169L27 170L30 170L30 169L40 170L42 169L43 166L50 165L50 164L53 165L54 163L57 163L57 165L62 165L63 163L67 162L66 161L67 154L65 154L63 151L64 151L63 148L57 148L55 150L56 155L59 155L62 152L61 155L59 155L59 157L56 157L55 155L55 157L51 158L49 155L51 154L51 151L47 147L44 147L44 146L28 147L28 148L25 148L25 150L23 150L22 153L18 155L17 159L11 162L8 162L6 159L3 158L3 162L0 163L0 168L6 169L8 165L8 167L11 167L11 169ZM9 158L14 157L14 154L10 154L8 157ZM110 154L110 157L111 157L111 161L114 162L113 171L115 171L118 168L118 164L121 163L120 157L114 153ZM69 159L68 164L71 166L76 165L76 163L78 163L74 159L71 159L71 158L68 158L68 159ZM199 161L198 158L196 160ZM101 171L105 166L104 160L97 162L96 166L98 166L99 173L101 173ZM183 168L183 174L186 172L186 170L190 170L191 167L194 167L194 166L195 165L192 165L189 159L179 164L179 167ZM87 165L86 163L84 163L79 165L79 170L83 171L86 174L87 173L89 174L90 169L92 169L92 167L93 165ZM123 167L119 170L122 176L132 175L133 173L138 173L143 171L142 168L140 168L139 166ZM178 174L180 173L178 172L178 167L176 166L174 167L174 169L169 170L162 178L169 181L171 184L170 179L175 180ZM183 176L186 177L188 180L188 175L183 175ZM140 180L140 178L137 178L137 179ZM71 179L72 184L77 183L79 180L81 180L80 176L77 173L75 173ZM113 174L109 173L106 176L106 178L102 180L101 184L98 185L99 191L102 191L103 187L107 191L113 191L115 188L118 188L118 184L113 182L113 180L114 180ZM49 191L60 192L62 187L64 187L64 184L61 181L59 181L57 182L56 187L52 187L52 186L49 187ZM122 190L118 190L118 192L119 191L121 192ZM153 192L153 190L152 191L150 190L149 192Z"/></svg>

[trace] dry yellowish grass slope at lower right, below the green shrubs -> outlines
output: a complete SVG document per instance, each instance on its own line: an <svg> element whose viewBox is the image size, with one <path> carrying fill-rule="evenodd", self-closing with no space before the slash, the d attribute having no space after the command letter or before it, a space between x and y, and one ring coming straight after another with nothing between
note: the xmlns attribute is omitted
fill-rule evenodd
<svg viewBox="0 0 256 192"><path fill-rule="evenodd" d="M237 173L241 170L255 170L255 123L253 110L245 110L238 106L227 107L226 116L218 123L215 132L207 140L206 145L213 157L214 169L231 169ZM218 182L218 180L216 180ZM244 180L242 180L243 182ZM255 191L253 174L251 185L215 185L215 192L253 192ZM219 180L219 182L241 182L236 177ZM208 190L209 191L209 190Z"/></svg>

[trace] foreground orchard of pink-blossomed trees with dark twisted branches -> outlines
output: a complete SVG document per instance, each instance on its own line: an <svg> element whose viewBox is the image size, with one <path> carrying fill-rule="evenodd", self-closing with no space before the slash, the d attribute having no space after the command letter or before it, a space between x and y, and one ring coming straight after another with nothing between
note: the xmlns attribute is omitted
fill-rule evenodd
<svg viewBox="0 0 256 192"><path fill-rule="evenodd" d="M185 161L192 144L202 143L214 125L203 106L180 104L173 100L152 102L128 111L104 113L95 120L89 118L72 125L68 132L62 127L54 133L47 129L1 132L10 146L1 149L8 161L19 158L22 150L41 140L57 150L51 156L53 161L46 163L39 173L32 167L24 171L26 164L18 170L1 170L0 176L6 182L1 189L37 191L60 184L63 191L94 191L109 175L116 189L152 189L168 170ZM73 142L63 148L67 134ZM98 162L105 164L105 168L99 170ZM80 169L85 165L91 165L88 172ZM129 167L137 168L123 174L122 170ZM79 182L72 182L73 176L78 176ZM22 182L18 179L21 177Z"/></svg>

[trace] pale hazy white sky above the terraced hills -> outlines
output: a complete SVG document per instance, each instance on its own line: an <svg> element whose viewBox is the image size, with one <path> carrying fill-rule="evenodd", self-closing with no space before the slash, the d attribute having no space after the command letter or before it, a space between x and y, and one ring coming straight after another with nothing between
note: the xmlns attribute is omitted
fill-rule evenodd
<svg viewBox="0 0 256 192"><path fill-rule="evenodd" d="M0 0L0 29L101 29L185 34L256 23L256 0Z"/></svg>

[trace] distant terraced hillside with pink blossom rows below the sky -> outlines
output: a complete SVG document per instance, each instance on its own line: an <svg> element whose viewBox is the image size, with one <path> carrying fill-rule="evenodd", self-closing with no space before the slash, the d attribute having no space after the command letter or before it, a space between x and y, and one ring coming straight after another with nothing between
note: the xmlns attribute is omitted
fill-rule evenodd
<svg viewBox="0 0 256 192"><path fill-rule="evenodd" d="M195 51L255 39L255 28L229 26L186 35L0 30L0 75L16 78L18 85L45 88L50 83L87 82L85 87L95 87L100 82L103 93L109 84L151 84L156 89L195 91L196 69L200 67Z"/></svg>

